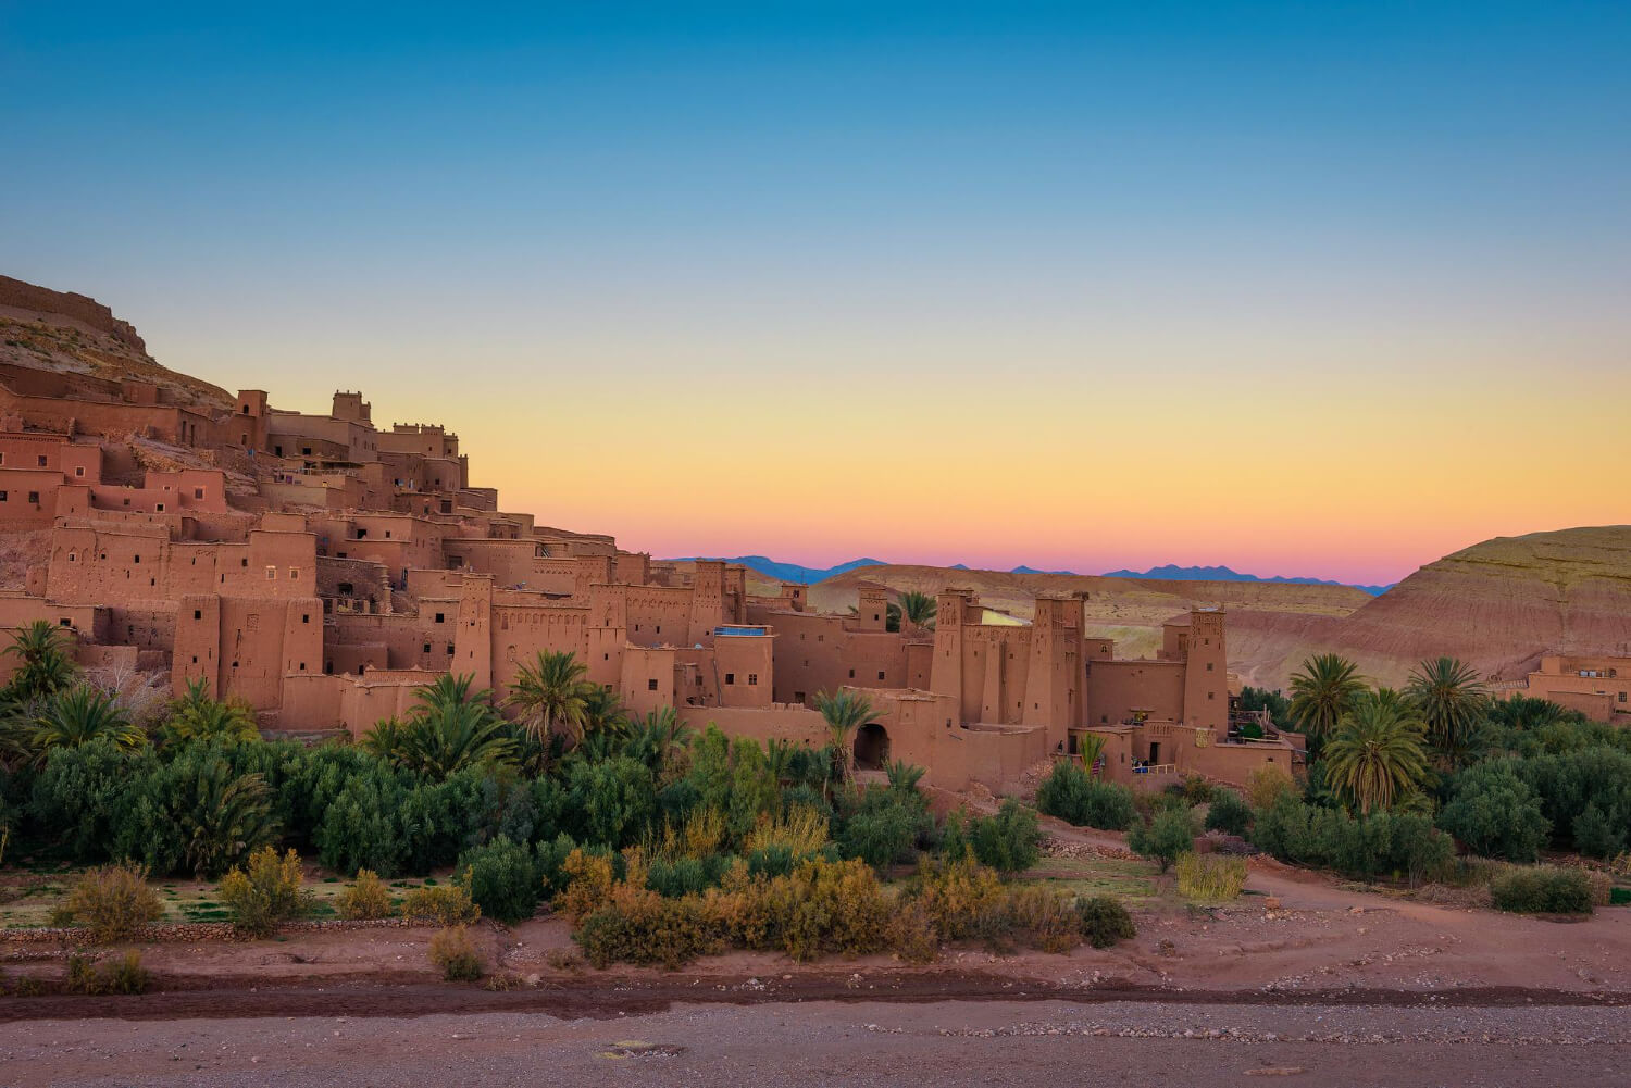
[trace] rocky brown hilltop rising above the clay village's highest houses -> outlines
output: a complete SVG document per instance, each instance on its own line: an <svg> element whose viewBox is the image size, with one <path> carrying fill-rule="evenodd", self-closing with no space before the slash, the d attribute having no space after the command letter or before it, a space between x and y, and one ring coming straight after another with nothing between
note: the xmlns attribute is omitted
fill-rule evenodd
<svg viewBox="0 0 1631 1088"><path fill-rule="evenodd" d="M160 365L135 326L95 299L0 276L0 377L10 367L142 378L170 390L175 403L233 406L227 390Z"/></svg>

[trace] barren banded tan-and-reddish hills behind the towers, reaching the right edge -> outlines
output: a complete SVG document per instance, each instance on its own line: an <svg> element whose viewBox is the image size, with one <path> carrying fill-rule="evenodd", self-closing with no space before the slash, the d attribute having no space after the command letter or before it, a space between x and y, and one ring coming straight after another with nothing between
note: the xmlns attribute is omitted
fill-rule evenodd
<svg viewBox="0 0 1631 1088"><path fill-rule="evenodd" d="M1285 687L1305 657L1337 652L1378 683L1399 685L1424 657L1452 654L1491 677L1520 679L1541 654L1631 652L1631 525L1497 537L1429 563L1368 597L1354 587L1178 582L874 566L811 590L817 607L855 602L855 582L939 592L967 586L1028 617L1031 595L1085 590L1090 630L1127 656L1160 643L1160 625L1191 604L1228 608L1230 667L1248 683Z"/></svg>

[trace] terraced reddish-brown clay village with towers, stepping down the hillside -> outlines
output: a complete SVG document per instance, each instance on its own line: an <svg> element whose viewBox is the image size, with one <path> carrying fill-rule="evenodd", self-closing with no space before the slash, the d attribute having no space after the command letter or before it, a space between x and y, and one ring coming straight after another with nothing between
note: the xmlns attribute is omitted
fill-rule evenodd
<svg viewBox="0 0 1631 1088"><path fill-rule="evenodd" d="M1080 595L1021 621L953 590L931 630L891 631L882 586L819 613L802 586L750 595L740 566L654 563L506 512L471 486L458 436L380 431L356 391L308 414L258 390L227 409L31 375L0 374L0 530L49 533L49 550L0 594L0 626L46 618L83 661L165 670L175 692L204 679L263 726L360 734L439 674L502 693L538 652L569 651L634 713L767 739L824 742L817 693L856 688L874 706L856 760L953 788L1010 788L1090 734L1098 772L1127 781L1241 781L1292 757L1231 728L1222 612L1173 618L1138 661L1085 628Z"/></svg>

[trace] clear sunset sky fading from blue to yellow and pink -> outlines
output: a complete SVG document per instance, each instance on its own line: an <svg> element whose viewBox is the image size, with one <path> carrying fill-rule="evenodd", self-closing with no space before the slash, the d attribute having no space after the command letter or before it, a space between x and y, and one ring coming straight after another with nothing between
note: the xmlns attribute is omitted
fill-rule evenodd
<svg viewBox="0 0 1631 1088"><path fill-rule="evenodd" d="M657 556L1631 520L1631 5L475 7L0 0L0 272Z"/></svg>

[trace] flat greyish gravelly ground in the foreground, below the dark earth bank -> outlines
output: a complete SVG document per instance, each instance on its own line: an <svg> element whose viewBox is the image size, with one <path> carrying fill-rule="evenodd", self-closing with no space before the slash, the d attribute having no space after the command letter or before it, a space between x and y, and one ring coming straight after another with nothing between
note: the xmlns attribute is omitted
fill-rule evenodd
<svg viewBox="0 0 1631 1088"><path fill-rule="evenodd" d="M1213 1037L1207 1037L1209 1033ZM677 1005L0 1026L11 1085L1618 1085L1624 1010L1065 1002Z"/></svg>

